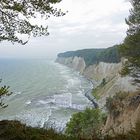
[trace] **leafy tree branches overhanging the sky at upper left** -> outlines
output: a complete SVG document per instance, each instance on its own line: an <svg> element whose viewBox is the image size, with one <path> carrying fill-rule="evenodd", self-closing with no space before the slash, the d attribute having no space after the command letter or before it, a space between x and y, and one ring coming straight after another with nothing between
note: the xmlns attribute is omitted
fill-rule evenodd
<svg viewBox="0 0 140 140"><path fill-rule="evenodd" d="M0 41L27 43L19 38L18 34L49 35L48 27L32 24L30 21L40 15L48 19L51 15L63 16L60 9L52 5L61 0L0 0Z"/></svg>

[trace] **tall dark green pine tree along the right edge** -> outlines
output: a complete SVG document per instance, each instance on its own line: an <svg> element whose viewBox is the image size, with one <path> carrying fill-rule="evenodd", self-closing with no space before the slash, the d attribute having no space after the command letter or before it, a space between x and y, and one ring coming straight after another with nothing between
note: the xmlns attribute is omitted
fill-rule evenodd
<svg viewBox="0 0 140 140"><path fill-rule="evenodd" d="M140 83L140 2L131 0L133 8L126 19L129 26L127 37L120 47L121 55L128 59L122 75L130 74L135 78L135 83Z"/></svg>

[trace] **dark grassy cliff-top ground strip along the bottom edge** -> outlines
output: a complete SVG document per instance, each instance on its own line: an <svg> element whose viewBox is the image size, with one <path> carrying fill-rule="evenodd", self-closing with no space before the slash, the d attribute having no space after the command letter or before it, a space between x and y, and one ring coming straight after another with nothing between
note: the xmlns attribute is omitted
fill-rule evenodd
<svg viewBox="0 0 140 140"><path fill-rule="evenodd" d="M105 120L106 116L103 115L103 117ZM89 132L91 132L90 129ZM19 121L7 121L7 120L0 121L1 140L139 140L140 139L139 132L140 132L140 121L137 121L136 128L134 130L131 130L126 134L116 134L113 137L111 136L104 136L101 138L93 137L91 139L89 138L89 136L87 138L75 138L66 136L62 133L56 133L53 129L46 130L42 128L32 128L26 126L25 124L21 124ZM74 131L73 135L75 133L76 131Z"/></svg>

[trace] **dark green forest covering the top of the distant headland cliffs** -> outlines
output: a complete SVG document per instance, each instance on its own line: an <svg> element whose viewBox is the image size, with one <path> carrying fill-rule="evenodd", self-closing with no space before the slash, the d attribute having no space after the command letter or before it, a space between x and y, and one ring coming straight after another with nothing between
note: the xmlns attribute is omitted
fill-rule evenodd
<svg viewBox="0 0 140 140"><path fill-rule="evenodd" d="M84 49L58 54L58 57L83 57L87 66L98 62L118 63L121 60L119 45L107 49Z"/></svg>

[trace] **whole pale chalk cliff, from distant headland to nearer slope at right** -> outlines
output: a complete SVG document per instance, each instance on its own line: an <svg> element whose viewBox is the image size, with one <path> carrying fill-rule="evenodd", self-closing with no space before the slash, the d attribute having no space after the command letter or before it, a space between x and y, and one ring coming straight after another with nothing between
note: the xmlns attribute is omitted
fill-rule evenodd
<svg viewBox="0 0 140 140"><path fill-rule="evenodd" d="M103 107L106 102L106 98L115 95L119 91L135 92L137 87L132 84L132 78L129 76L121 77L119 72L122 68L124 60L120 63L104 63L99 62L86 66L85 61L81 57L58 57L56 62L66 65L79 71L82 75L100 84L105 79L106 84L101 87L97 92L100 96L98 100L99 105ZM96 87L96 85L94 85Z"/></svg>

